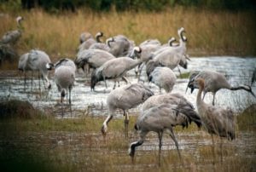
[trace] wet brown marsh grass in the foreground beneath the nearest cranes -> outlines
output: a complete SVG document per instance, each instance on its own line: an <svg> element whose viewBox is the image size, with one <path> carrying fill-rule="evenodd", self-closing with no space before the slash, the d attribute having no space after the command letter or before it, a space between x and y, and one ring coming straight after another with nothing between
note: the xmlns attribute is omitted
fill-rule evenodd
<svg viewBox="0 0 256 172"><path fill-rule="evenodd" d="M186 145L182 140L198 141L181 149L184 166L177 156L173 141L164 135L163 144L168 150L162 151L162 165L158 167L158 140L154 133L149 133L143 146L137 149L135 163L132 164L127 150L130 143L138 138L133 132L137 117L131 116L129 139L125 139L124 120L114 118L108 125L106 140L100 132L104 118L56 119L48 115L44 118L1 120L1 167L7 171L255 170L252 157L255 146L250 142L247 142L248 146L241 146L239 143L244 141L241 139L242 133L237 135L238 141L223 140L224 163L220 162L220 140L214 137L216 161L213 166L212 144L201 144L201 141L211 141L211 136L203 130L198 131L194 124L189 129L175 128L180 146Z"/></svg>

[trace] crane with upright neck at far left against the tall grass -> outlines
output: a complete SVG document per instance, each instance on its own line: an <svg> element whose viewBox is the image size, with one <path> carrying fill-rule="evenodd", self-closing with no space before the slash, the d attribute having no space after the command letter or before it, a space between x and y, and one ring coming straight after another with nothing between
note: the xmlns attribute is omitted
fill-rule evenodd
<svg viewBox="0 0 256 172"><path fill-rule="evenodd" d="M22 33L22 26L21 26L21 21L23 20L23 17L18 16L16 18L16 22L17 22L17 27L18 29L15 31L9 31L6 32L3 37L0 40L0 43L9 43L14 45L15 43L17 43L17 41L20 39L21 37L21 33Z"/></svg>

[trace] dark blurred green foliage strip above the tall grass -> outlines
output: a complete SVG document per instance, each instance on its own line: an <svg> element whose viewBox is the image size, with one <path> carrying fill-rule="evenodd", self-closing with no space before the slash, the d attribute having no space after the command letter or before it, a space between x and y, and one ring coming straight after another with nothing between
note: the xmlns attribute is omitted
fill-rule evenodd
<svg viewBox="0 0 256 172"><path fill-rule="evenodd" d="M1 10L42 8L51 13L89 8L94 11L158 12L175 6L219 10L254 10L255 0L0 0Z"/></svg>

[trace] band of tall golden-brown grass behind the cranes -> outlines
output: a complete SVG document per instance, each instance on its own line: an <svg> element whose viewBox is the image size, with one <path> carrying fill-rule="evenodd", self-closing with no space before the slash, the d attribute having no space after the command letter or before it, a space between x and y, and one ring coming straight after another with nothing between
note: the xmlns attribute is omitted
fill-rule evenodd
<svg viewBox="0 0 256 172"><path fill-rule="evenodd" d="M0 17L0 35L15 29L15 17L25 17L19 53L43 49L51 58L74 58L81 32L104 32L105 38L124 34L137 44L148 38L166 43L177 37L181 26L187 31L191 55L236 54L255 55L256 24L253 12L222 12L176 7L160 13L115 11L94 13L80 9L77 13L48 14L40 9L20 11Z"/></svg>

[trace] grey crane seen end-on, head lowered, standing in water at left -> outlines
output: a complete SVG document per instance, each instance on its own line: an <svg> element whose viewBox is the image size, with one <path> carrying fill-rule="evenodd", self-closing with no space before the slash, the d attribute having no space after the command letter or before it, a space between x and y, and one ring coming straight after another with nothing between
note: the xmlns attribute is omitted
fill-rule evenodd
<svg viewBox="0 0 256 172"><path fill-rule="evenodd" d="M73 88L73 84L75 81L75 70L73 66L65 66L60 65L55 67L55 83L57 85L58 90L61 92L61 115L62 118L64 116L63 110L63 99L65 95L69 95L69 106L70 106L70 113L72 116L72 108L71 108L71 90Z"/></svg>

